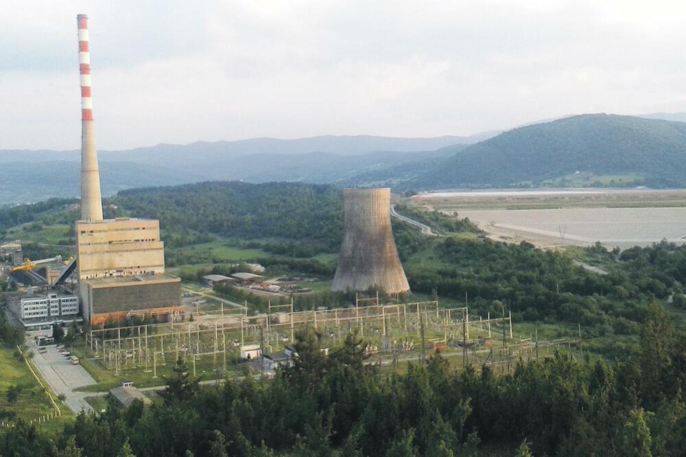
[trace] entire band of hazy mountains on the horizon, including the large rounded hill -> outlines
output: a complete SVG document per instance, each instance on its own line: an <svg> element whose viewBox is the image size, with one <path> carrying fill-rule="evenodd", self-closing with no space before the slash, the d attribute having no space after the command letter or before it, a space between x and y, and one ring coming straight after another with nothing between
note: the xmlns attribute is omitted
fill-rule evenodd
<svg viewBox="0 0 686 457"><path fill-rule="evenodd" d="M99 151L105 196L205 180L394 191L483 187L686 187L684 113L571 115L508 132L403 139L313 137ZM479 139L484 141L477 141ZM78 195L78 151L0 151L0 206Z"/></svg>

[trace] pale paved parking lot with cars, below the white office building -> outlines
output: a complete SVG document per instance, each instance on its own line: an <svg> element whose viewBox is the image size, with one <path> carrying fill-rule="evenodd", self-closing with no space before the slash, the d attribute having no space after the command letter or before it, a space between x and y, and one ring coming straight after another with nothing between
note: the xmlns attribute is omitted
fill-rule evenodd
<svg viewBox="0 0 686 457"><path fill-rule="evenodd" d="M57 395L64 394L64 397L66 397L64 403L67 403L69 409L75 414L78 414L81 410L86 410L86 412L93 410L86 401L86 397L97 397L106 394L106 392L74 392L75 388L97 384L83 366L72 365L55 346L47 346L45 354L39 353L38 346L32 336L27 335L26 345L30 351L33 351L34 358L32 362L38 368L40 374L43 375L43 379Z"/></svg>

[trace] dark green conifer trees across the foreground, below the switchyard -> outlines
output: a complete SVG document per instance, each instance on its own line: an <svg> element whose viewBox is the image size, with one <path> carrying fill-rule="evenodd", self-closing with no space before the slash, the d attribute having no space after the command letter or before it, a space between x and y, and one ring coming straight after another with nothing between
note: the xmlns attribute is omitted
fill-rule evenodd
<svg viewBox="0 0 686 457"><path fill-rule="evenodd" d="M20 422L1 432L0 454L476 456L530 455L530 446L540 456L682 455L686 336L652 303L640 338L613 364L556 353L497 376L488 366L455 372L436 353L380 375L356 335L327 357L310 329L298 334L295 366L271 381L199 388L179 361L163 403L80 414L54 436Z"/></svg>

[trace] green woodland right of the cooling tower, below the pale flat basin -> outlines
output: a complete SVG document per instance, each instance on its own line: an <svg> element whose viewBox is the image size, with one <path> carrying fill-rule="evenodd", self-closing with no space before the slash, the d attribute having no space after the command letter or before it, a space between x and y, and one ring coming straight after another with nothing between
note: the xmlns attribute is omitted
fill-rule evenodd
<svg viewBox="0 0 686 457"><path fill-rule="evenodd" d="M436 242L435 264L407 266L410 287L469 300L473 312L499 315L512 309L524 320L581 323L595 336L635 334L650 298L683 303L686 246L666 242L632 248L615 260L602 246L588 255L606 257L613 268L602 275L584 270L565 253L529 243L504 244L447 237Z"/></svg>

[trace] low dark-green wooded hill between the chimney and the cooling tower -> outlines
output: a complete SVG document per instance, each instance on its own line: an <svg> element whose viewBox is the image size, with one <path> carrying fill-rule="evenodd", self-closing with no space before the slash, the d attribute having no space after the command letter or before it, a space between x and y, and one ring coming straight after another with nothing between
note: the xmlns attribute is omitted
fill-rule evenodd
<svg viewBox="0 0 686 457"><path fill-rule="evenodd" d="M332 246L342 237L343 197L329 185L207 182L121 191L108 202L130 215L158 219L166 231L309 238Z"/></svg>

